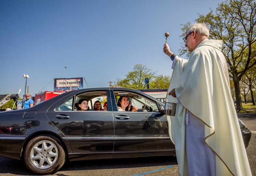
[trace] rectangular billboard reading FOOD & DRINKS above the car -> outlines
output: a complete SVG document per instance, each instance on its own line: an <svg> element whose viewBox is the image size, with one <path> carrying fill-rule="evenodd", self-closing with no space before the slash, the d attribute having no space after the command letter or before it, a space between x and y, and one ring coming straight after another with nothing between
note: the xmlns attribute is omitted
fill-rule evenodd
<svg viewBox="0 0 256 176"><path fill-rule="evenodd" d="M83 78L54 78L53 92L68 92L83 89Z"/></svg>

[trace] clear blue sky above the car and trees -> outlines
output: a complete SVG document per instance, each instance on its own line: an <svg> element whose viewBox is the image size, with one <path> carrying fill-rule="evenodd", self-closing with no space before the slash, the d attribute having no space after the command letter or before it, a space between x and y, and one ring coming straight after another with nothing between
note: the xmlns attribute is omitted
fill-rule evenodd
<svg viewBox="0 0 256 176"><path fill-rule="evenodd" d="M171 75L167 43L178 53L180 24L194 22L222 1L1 0L0 94L53 91L53 78L84 77L88 87L108 87L135 64ZM84 88L87 88L84 84Z"/></svg>

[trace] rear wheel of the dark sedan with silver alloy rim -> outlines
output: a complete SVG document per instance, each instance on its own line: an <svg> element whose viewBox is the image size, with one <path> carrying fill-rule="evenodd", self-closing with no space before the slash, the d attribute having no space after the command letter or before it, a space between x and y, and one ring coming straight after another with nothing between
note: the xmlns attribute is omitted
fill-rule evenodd
<svg viewBox="0 0 256 176"><path fill-rule="evenodd" d="M30 140L24 152L26 167L38 175L59 170L67 160L61 141L52 135L40 135Z"/></svg>

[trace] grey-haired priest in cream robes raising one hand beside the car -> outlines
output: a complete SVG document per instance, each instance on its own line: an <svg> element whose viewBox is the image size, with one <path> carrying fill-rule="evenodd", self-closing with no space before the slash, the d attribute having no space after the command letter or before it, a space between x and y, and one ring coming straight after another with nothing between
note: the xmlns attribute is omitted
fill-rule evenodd
<svg viewBox="0 0 256 176"><path fill-rule="evenodd" d="M191 52L182 59L166 43L163 51L173 60L166 101L177 103L168 116L181 176L249 176L251 170L230 93L222 40L209 40L204 23L185 32Z"/></svg>

